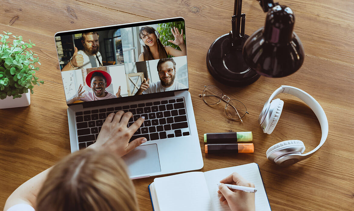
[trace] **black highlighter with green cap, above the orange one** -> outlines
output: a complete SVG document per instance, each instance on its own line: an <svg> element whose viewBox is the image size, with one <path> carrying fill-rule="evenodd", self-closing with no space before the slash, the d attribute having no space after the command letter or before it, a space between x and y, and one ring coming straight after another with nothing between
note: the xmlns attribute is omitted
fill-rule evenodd
<svg viewBox="0 0 354 211"><path fill-rule="evenodd" d="M204 133L204 142L208 144L237 143L239 141L252 141L252 132L231 133Z"/></svg>

